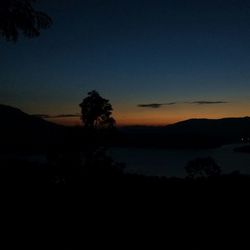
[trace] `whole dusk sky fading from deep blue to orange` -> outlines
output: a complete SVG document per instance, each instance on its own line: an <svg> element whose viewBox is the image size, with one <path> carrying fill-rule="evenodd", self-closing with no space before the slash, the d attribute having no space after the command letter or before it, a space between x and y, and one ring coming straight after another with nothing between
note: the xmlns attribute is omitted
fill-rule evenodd
<svg viewBox="0 0 250 250"><path fill-rule="evenodd" d="M35 7L53 26L38 38L0 40L0 103L72 125L91 90L110 100L119 125L250 115L250 1Z"/></svg>

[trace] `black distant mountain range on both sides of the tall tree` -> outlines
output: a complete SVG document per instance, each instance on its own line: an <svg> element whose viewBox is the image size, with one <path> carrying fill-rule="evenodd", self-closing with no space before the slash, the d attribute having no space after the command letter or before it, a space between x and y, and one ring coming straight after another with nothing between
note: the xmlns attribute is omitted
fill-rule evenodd
<svg viewBox="0 0 250 250"><path fill-rule="evenodd" d="M6 105L0 105L0 116L2 150L13 145L19 148L23 145L60 145L70 130ZM118 131L118 136L112 139L112 145L214 146L250 138L250 118L190 119L168 126L130 126ZM76 130L75 138L78 134Z"/></svg>

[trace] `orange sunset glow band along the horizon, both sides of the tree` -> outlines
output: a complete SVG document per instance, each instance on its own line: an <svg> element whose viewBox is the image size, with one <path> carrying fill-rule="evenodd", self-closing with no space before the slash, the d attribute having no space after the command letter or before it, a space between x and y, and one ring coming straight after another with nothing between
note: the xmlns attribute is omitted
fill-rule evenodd
<svg viewBox="0 0 250 250"><path fill-rule="evenodd" d="M119 112L117 110L120 110ZM143 109L117 107L113 113L117 126L164 126L192 118L221 119L249 116L250 103L221 105L177 105L170 108ZM66 126L80 126L80 117L50 118L48 121Z"/></svg>

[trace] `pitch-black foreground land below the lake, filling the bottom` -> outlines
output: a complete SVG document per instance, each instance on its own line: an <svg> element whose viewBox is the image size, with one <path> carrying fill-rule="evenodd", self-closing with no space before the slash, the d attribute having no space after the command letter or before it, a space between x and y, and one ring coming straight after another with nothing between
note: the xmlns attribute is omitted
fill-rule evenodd
<svg viewBox="0 0 250 250"><path fill-rule="evenodd" d="M250 176L144 177L98 164L1 162L2 239L33 249L248 249Z"/></svg>

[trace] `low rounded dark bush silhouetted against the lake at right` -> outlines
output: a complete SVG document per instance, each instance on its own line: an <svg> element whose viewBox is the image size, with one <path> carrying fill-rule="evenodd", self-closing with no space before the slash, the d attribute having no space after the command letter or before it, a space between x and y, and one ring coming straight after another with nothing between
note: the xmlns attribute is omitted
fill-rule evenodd
<svg viewBox="0 0 250 250"><path fill-rule="evenodd" d="M185 169L190 178L218 176L221 173L220 166L211 157L191 160Z"/></svg>

